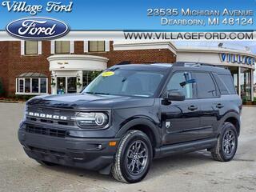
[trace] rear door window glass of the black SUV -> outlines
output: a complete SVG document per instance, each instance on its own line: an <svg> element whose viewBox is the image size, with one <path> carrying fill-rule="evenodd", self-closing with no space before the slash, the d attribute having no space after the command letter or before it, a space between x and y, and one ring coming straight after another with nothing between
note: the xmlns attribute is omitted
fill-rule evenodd
<svg viewBox="0 0 256 192"><path fill-rule="evenodd" d="M217 90L209 73L194 73L198 86L198 98L215 98Z"/></svg>

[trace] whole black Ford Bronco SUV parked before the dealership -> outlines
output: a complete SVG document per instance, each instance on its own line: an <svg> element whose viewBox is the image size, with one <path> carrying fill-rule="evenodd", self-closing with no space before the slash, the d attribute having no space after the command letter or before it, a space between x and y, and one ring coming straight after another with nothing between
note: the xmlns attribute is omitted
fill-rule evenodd
<svg viewBox="0 0 256 192"><path fill-rule="evenodd" d="M229 70L197 63L105 70L80 94L26 102L18 139L26 154L139 182L153 158L208 150L227 162L238 147L242 101Z"/></svg>

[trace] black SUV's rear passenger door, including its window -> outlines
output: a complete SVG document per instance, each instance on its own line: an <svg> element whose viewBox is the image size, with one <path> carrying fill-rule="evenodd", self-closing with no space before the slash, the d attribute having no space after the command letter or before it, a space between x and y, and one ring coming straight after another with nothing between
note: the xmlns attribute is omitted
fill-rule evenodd
<svg viewBox="0 0 256 192"><path fill-rule="evenodd" d="M218 86L210 72L194 72L200 106L198 138L213 138L218 123L219 110L223 107Z"/></svg>

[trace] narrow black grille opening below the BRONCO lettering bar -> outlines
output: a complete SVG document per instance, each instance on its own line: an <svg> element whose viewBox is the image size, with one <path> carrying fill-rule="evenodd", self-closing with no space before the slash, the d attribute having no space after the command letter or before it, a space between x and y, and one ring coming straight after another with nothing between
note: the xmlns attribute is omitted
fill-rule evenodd
<svg viewBox="0 0 256 192"><path fill-rule="evenodd" d="M38 126L30 126L30 125L26 126L26 132L31 134L44 134L44 135L49 135L57 138L65 138L68 134L66 130L56 130L56 129L50 129L50 128L42 128Z"/></svg>

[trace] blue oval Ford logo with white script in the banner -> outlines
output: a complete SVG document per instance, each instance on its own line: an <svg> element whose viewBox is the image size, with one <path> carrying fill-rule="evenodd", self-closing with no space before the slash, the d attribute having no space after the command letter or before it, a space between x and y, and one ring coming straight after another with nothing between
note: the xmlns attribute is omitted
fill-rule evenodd
<svg viewBox="0 0 256 192"><path fill-rule="evenodd" d="M10 22L6 31L17 38L49 39L67 34L70 27L54 18L21 18Z"/></svg>

